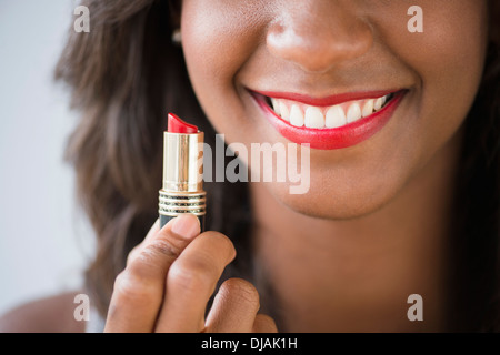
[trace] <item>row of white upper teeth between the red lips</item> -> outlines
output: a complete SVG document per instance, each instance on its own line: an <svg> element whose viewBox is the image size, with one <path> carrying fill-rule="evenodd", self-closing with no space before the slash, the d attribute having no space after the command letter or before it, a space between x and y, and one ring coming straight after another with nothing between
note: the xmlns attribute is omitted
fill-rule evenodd
<svg viewBox="0 0 500 355"><path fill-rule="evenodd" d="M294 126L337 129L381 110L389 95L379 99L353 100L331 106L312 106L292 100L270 99L274 112Z"/></svg>

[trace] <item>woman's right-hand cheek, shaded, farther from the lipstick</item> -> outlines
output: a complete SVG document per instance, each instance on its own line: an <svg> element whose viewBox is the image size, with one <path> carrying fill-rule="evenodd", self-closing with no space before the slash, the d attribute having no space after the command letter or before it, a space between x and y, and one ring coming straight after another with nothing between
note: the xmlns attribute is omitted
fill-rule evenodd
<svg viewBox="0 0 500 355"><path fill-rule="evenodd" d="M392 136L398 155L392 163L384 161L400 184L416 176L459 131L481 82L488 42L487 1L414 2L423 10L422 33L409 32L407 21L382 16L374 20L384 50L416 78L404 128Z"/></svg>

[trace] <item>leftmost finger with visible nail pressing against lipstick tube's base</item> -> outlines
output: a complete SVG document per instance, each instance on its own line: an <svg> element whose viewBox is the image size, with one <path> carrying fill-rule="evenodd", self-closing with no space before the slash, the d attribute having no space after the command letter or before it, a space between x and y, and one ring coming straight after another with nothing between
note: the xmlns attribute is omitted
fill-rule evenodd
<svg viewBox="0 0 500 355"><path fill-rule="evenodd" d="M200 233L193 215L171 220L118 275L104 332L152 332L170 265Z"/></svg>

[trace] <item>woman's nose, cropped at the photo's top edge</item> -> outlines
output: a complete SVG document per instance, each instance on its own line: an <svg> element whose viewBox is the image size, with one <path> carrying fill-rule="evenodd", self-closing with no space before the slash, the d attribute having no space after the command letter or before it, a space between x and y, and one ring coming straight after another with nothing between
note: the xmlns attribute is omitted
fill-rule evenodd
<svg viewBox="0 0 500 355"><path fill-rule="evenodd" d="M364 54L373 43L369 23L337 1L287 1L266 34L269 52L309 72Z"/></svg>

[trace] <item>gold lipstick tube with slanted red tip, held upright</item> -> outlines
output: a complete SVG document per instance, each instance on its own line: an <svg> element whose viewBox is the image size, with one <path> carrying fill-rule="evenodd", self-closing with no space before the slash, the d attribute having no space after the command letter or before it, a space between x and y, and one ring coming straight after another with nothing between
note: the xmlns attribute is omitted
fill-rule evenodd
<svg viewBox="0 0 500 355"><path fill-rule="evenodd" d="M169 114L163 133L163 184L159 192L160 227L184 213L198 216L204 230L207 193L203 191L203 132Z"/></svg>

